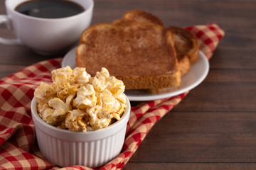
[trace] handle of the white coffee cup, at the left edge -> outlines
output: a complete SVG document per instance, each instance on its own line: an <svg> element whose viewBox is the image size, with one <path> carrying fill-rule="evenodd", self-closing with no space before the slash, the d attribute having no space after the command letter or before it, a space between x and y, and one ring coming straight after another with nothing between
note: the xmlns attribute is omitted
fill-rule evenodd
<svg viewBox="0 0 256 170"><path fill-rule="evenodd" d="M11 18L9 18L8 16L0 15L0 24L1 23L6 24L6 27L9 30L12 30ZM0 37L0 43L4 44L4 45L23 45L21 40L18 40L18 39L7 39L7 38L1 38L1 37Z"/></svg>

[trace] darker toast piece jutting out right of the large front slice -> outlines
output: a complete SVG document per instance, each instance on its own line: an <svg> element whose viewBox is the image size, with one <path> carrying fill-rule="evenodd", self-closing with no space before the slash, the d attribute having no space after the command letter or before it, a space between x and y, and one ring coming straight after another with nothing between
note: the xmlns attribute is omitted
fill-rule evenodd
<svg viewBox="0 0 256 170"><path fill-rule="evenodd" d="M183 76L189 71L191 64L198 59L198 40L193 33L184 28L172 26L167 29L174 34L174 48L181 76Z"/></svg>

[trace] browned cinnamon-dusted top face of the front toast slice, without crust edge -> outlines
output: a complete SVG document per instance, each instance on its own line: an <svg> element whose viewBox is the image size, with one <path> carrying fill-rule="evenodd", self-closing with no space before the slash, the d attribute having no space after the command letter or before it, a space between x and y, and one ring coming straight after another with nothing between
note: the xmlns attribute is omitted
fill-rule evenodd
<svg viewBox="0 0 256 170"><path fill-rule="evenodd" d="M176 72L174 50L167 42L170 35L162 32L151 23L135 23L124 29L99 24L87 30L86 40L81 40L78 66L86 65L90 74L104 66L115 76Z"/></svg>

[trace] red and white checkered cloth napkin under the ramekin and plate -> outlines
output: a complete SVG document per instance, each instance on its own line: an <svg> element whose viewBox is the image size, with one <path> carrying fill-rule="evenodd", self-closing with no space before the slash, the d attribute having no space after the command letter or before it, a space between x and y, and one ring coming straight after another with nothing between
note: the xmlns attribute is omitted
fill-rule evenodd
<svg viewBox="0 0 256 170"><path fill-rule="evenodd" d="M210 59L224 32L216 24L191 26L200 49ZM0 169L60 169L43 159L38 150L31 118L33 91L41 81L51 83L50 72L60 67L60 58L33 64L0 80ZM132 107L124 147L119 156L100 169L122 169L146 134L161 117L176 106L187 93ZM63 169L90 169L70 166Z"/></svg>

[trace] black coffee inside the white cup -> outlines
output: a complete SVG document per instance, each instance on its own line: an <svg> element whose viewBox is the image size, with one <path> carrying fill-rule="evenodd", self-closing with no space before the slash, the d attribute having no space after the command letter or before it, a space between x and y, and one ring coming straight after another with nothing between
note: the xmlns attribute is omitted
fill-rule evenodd
<svg viewBox="0 0 256 170"><path fill-rule="evenodd" d="M38 18L64 18L82 13L85 8L73 1L32 0L19 4L15 11Z"/></svg>

